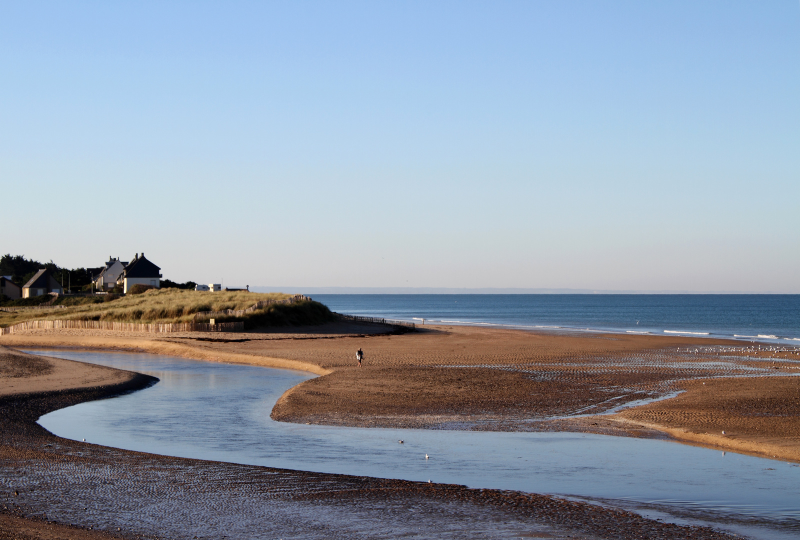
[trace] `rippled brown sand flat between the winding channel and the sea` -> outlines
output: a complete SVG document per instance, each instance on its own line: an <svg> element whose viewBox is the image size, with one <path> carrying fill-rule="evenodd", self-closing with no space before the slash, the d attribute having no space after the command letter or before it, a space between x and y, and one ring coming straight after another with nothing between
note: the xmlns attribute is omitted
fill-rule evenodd
<svg viewBox="0 0 800 540"><path fill-rule="evenodd" d="M800 461L800 407L782 406L797 401L800 378L787 375L800 373L798 350L753 350L749 342L473 326L403 334L338 322L241 334L29 330L2 336L0 344L139 350L324 375L278 400L272 418L286 422L588 431ZM358 348L366 354L362 368L354 358ZM730 392L740 380L745 394L730 412ZM658 404L600 415L681 391Z"/></svg>

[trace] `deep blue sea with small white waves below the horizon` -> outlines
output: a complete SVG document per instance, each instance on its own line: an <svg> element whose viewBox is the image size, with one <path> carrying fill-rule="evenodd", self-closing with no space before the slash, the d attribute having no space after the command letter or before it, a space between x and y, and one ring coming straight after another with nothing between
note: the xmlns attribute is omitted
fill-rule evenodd
<svg viewBox="0 0 800 540"><path fill-rule="evenodd" d="M432 323L701 335L800 345L800 294L315 294L331 310Z"/></svg>

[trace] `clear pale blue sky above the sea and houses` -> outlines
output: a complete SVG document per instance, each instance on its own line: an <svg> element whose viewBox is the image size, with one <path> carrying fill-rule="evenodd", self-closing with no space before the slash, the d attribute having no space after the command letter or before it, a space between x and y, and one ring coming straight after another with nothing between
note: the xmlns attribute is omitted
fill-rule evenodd
<svg viewBox="0 0 800 540"><path fill-rule="evenodd" d="M800 293L800 4L2 2L0 250Z"/></svg>

